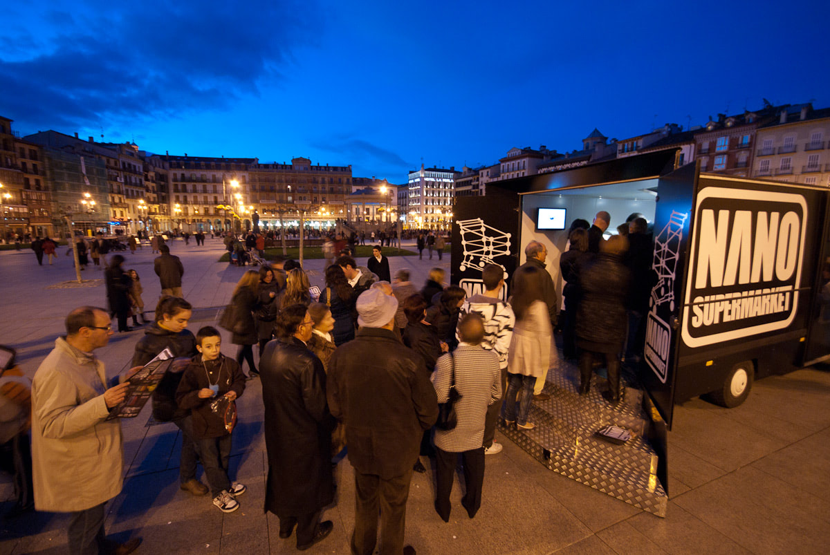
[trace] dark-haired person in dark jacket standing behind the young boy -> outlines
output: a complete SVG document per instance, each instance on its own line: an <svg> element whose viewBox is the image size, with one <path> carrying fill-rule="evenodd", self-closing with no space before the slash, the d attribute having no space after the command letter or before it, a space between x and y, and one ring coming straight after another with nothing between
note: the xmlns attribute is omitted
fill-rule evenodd
<svg viewBox="0 0 830 555"><path fill-rule="evenodd" d="M144 330L144 337L135 344L132 366L144 366L156 355L170 349L174 358L193 358L196 338L188 329L193 316L193 307L185 299L168 295L159 299L154 313L154 322ZM182 372L166 372L154 391L154 397L164 397L175 402L178 383ZM182 452L179 456L179 489L189 494L207 495L207 486L196 479L196 445L193 443L193 419L188 411L178 405L170 407L170 421L182 431Z"/></svg>

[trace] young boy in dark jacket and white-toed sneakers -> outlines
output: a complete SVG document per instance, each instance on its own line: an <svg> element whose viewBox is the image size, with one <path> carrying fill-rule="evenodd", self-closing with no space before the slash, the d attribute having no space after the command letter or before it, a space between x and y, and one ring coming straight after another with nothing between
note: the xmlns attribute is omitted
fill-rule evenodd
<svg viewBox="0 0 830 555"><path fill-rule="evenodd" d="M231 455L231 433L227 431L224 410L214 411L219 397L234 401L245 391L245 374L232 358L220 352L222 337L216 328L205 326L196 334L199 354L185 369L176 391L176 402L193 416L193 441L210 484L213 504L223 513L239 509L237 495L246 487L227 477Z"/></svg>

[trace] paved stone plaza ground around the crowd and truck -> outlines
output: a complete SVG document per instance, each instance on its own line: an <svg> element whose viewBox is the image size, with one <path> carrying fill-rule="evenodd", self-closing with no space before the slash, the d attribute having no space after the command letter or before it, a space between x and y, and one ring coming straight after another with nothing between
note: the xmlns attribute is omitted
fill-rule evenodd
<svg viewBox="0 0 830 555"><path fill-rule="evenodd" d="M32 377L64 332L66 314L82 304L105 305L103 272L88 267L92 286L66 288L71 259L58 250L56 265L38 266L32 251L0 252L0 343L17 348ZM190 329L214 324L246 270L217 262L222 242L205 246L173 241L182 258L183 292L194 307ZM137 270L149 311L159 296L149 247L125 253ZM365 260L359 260L364 264ZM323 260L306 260L313 285L322 285ZM418 286L439 263L417 256L391 257L394 275L413 272ZM149 314L148 314L149 316ZM115 333L96 351L109 376L128 367L139 330ZM226 337L226 339L229 339ZM224 344L223 352L236 353ZM266 447L261 385L247 382L238 402L232 474L247 484L242 508L222 514L208 497L178 489L180 438L173 424L148 426L149 408L123 422L125 487L108 506L106 529L124 541L141 536L137 553L293 553L295 537L278 538L278 523L265 514ZM735 409L694 399L676 407L669 434L666 518L647 514L586 485L547 470L510 440L487 456L483 503L476 518L462 510L456 483L452 515L443 523L432 508L432 472L415 475L408 501L407 543L417 553L827 553L830 544L830 372L808 368L754 385ZM432 469L430 469L432 470ZM349 553L354 525L354 479L348 459L337 465L337 499L323 518L334 531L307 553ZM12 488L0 474L0 512ZM0 517L0 555L66 553L65 514Z"/></svg>

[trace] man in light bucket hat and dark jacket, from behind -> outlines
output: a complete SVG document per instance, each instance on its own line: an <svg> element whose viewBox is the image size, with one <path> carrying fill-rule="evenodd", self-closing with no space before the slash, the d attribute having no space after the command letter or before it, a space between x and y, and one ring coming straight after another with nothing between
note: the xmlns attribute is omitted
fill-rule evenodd
<svg viewBox="0 0 830 555"><path fill-rule="evenodd" d="M398 301L381 290L360 295L360 329L337 349L329 368L329 407L344 423L354 467L351 550L360 555L374 552L378 514L380 553L403 552L413 460L423 431L438 416L422 359L392 331L397 309Z"/></svg>

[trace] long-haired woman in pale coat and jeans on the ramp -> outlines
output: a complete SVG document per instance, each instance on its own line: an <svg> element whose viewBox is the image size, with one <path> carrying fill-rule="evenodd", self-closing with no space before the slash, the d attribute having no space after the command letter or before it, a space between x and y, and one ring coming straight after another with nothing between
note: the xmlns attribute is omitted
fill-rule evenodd
<svg viewBox="0 0 830 555"><path fill-rule="evenodd" d="M501 417L508 426L520 430L536 427L527 421L530 404L533 402L533 388L536 378L544 376L550 367L550 341L553 329L550 326L548 305L542 299L544 270L525 266L513 275L513 296L510 306L516 317L510 352L507 355L507 392ZM522 391L518 412L516 396Z"/></svg>

